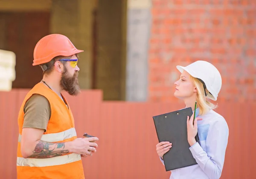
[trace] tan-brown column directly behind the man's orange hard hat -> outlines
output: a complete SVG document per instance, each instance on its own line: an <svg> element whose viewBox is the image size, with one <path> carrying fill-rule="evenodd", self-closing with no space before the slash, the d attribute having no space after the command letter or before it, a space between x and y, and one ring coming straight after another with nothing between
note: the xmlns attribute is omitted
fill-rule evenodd
<svg viewBox="0 0 256 179"><path fill-rule="evenodd" d="M92 11L95 0L52 0L51 33L66 35L79 54L79 83L82 89L91 88Z"/></svg>

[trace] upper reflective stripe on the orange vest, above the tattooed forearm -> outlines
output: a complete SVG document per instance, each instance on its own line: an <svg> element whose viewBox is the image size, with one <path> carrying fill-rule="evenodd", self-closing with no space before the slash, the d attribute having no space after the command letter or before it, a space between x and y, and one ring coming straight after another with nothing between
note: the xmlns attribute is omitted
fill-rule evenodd
<svg viewBox="0 0 256 179"><path fill-rule="evenodd" d="M69 139L74 136L76 136L76 130L75 128L70 128L66 131L62 131L58 133L43 134L41 137L41 140L45 142L58 142L58 141L63 141L65 139ZM18 142L20 141L21 141L21 135L19 134Z"/></svg>

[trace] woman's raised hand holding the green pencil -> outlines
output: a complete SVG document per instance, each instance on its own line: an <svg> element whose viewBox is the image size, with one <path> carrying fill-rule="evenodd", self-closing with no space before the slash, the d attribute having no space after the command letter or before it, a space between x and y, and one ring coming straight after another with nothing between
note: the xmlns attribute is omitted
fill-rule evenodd
<svg viewBox="0 0 256 179"><path fill-rule="evenodd" d="M202 120L202 118L196 117L193 125L194 115L195 114L193 113L190 119L189 119L189 116L187 117L188 142L190 146L196 143L195 136L198 132L197 121Z"/></svg>

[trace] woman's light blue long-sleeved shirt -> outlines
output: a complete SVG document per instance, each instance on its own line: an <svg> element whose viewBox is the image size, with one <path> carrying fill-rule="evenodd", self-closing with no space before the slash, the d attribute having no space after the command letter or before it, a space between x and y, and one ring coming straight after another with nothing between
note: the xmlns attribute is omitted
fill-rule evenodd
<svg viewBox="0 0 256 179"><path fill-rule="evenodd" d="M198 113L197 108L195 116L198 116ZM172 170L170 179L219 179L221 177L229 135L227 122L223 116L213 110L198 117L203 119L198 121L201 146L197 142L189 148L198 164ZM160 160L163 162L161 158Z"/></svg>

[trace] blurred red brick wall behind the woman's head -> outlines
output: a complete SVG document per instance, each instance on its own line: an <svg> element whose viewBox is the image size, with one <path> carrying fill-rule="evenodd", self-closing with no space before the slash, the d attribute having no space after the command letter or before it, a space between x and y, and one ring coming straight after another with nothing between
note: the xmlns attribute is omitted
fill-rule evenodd
<svg viewBox="0 0 256 179"><path fill-rule="evenodd" d="M207 60L222 75L219 100L256 100L256 0L152 0L149 100L177 100L176 65Z"/></svg>

